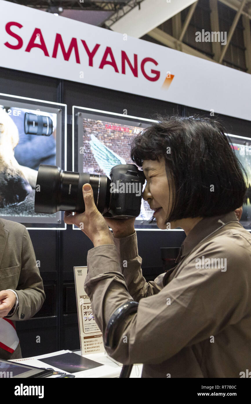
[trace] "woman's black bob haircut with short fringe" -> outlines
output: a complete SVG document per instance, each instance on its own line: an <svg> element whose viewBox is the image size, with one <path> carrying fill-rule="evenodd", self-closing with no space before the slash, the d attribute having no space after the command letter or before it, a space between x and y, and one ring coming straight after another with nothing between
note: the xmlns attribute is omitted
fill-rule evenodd
<svg viewBox="0 0 251 404"><path fill-rule="evenodd" d="M139 167L143 160L165 159L169 196L170 186L174 196L167 222L219 216L241 207L247 173L222 124L198 115L157 118L133 139L131 159Z"/></svg>

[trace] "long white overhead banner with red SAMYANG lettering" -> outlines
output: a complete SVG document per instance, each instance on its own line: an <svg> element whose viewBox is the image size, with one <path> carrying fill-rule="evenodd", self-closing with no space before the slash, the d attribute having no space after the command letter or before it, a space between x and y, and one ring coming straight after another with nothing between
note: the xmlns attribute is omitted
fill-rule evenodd
<svg viewBox="0 0 251 404"><path fill-rule="evenodd" d="M250 74L4 0L0 21L2 67L251 120Z"/></svg>

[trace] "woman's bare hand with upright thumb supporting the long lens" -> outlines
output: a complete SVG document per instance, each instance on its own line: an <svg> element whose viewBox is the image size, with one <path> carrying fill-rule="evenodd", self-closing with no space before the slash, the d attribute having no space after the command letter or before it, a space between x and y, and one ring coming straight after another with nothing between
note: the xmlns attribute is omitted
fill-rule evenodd
<svg viewBox="0 0 251 404"><path fill-rule="evenodd" d="M103 244L114 244L113 235L106 224L104 217L97 210L94 203L93 190L91 185L83 185L83 198L85 202L85 212L76 213L64 212L64 223L74 224L79 227L87 237L93 242L94 247Z"/></svg>

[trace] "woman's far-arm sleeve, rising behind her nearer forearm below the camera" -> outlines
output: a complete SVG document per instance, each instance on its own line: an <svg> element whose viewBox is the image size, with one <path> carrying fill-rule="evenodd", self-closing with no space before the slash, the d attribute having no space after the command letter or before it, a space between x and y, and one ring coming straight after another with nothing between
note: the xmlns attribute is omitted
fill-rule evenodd
<svg viewBox="0 0 251 404"><path fill-rule="evenodd" d="M139 302L142 297L155 295L161 290L156 282L146 282L142 274L141 263L137 246L137 234L124 238L115 238L114 244L118 251L118 259L122 274L126 280L127 288L134 301Z"/></svg>

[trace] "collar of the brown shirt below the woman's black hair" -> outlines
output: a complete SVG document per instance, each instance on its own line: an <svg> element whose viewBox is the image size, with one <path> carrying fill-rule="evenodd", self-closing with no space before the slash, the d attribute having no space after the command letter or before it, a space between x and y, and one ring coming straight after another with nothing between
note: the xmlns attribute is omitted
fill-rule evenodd
<svg viewBox="0 0 251 404"><path fill-rule="evenodd" d="M193 248L197 246L197 244L199 244L199 242L201 242L204 238L210 236L212 233L214 233L214 231L217 231L218 229L220 229L220 227L223 227L231 221L236 221L237 223L239 223L234 211L226 213L224 215L204 217L193 227L193 229L189 232L189 234L183 241L175 263L179 263L181 259L186 257L189 252L191 252Z"/></svg>

